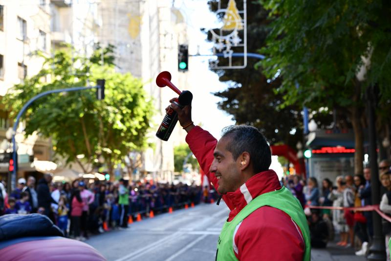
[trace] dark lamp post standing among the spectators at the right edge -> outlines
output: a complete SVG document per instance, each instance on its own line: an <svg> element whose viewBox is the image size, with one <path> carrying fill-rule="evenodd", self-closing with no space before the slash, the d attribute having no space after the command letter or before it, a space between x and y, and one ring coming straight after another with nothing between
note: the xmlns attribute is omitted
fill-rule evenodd
<svg viewBox="0 0 391 261"><path fill-rule="evenodd" d="M372 205L380 204L380 182L377 169L376 152L376 127L375 107L377 100L376 87L368 87L368 121L369 121L369 166L370 166L370 187ZM368 260L386 260L384 236L382 233L382 220L379 214L372 211L373 240L369 248Z"/></svg>

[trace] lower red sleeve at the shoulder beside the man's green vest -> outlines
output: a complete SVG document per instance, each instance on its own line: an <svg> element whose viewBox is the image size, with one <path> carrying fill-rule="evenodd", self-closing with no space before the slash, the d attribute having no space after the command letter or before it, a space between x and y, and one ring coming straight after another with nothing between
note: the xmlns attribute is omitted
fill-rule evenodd
<svg viewBox="0 0 391 261"><path fill-rule="evenodd" d="M299 226L288 214L269 206L243 219L234 240L234 252L240 261L302 261L304 257L304 239Z"/></svg>

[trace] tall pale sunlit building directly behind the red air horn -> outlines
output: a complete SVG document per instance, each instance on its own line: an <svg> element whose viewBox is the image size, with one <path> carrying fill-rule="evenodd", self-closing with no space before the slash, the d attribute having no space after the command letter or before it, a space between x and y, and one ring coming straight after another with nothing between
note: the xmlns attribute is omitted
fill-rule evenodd
<svg viewBox="0 0 391 261"><path fill-rule="evenodd" d="M149 137L155 146L142 152L142 166L130 173L129 178L171 182L174 145L184 141L185 132L177 126L169 141L155 137L165 108L176 95L169 88L157 87L155 79L160 71L170 71L172 82L179 89L187 86L187 74L177 70L178 45L187 41L186 24L169 0L102 0L98 8L102 19L99 42L102 46L116 47L117 71L142 78L156 108Z"/></svg>

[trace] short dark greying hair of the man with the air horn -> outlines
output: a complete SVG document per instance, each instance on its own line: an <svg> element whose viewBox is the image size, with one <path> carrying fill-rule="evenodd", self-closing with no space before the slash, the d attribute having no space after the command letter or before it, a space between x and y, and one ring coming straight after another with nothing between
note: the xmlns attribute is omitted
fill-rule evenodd
<svg viewBox="0 0 391 261"><path fill-rule="evenodd" d="M246 151L250 154L255 173L269 169L272 162L270 147L257 128L248 125L232 125L223 128L221 132L222 138L231 138L226 149L232 153L234 160Z"/></svg>

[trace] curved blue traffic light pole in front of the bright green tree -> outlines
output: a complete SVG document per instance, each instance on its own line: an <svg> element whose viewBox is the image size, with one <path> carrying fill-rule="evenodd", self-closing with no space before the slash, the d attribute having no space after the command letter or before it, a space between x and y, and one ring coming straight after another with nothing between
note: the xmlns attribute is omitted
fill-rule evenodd
<svg viewBox="0 0 391 261"><path fill-rule="evenodd" d="M88 86L88 87L72 87L72 88L65 88L65 89L58 89L58 90L50 90L50 91L46 91L46 92L43 92L39 95L36 95L34 97L32 97L29 101L27 101L23 107L22 107L22 110L18 113L18 116L16 117L15 119L15 122L14 122L14 125L12 127L13 129L13 133L12 133L12 160L14 161L14 169L12 170L12 174L11 174L11 188L10 188L10 191L14 190L15 187L16 187L16 176L17 176L17 170L18 170L18 158L17 158L17 149L16 149L16 142L15 142L15 134L16 134L16 130L18 128L18 125L19 125L19 120L21 119L23 113L27 110L27 108L31 105L31 103L33 103L35 100L43 97L43 96L46 96L46 95L49 95L49 94L55 94L55 93L64 93L64 92L75 92L75 91L81 91L81 90L88 90L88 89L104 89L104 81L99 81L99 83L101 85L97 85L97 86Z"/></svg>

